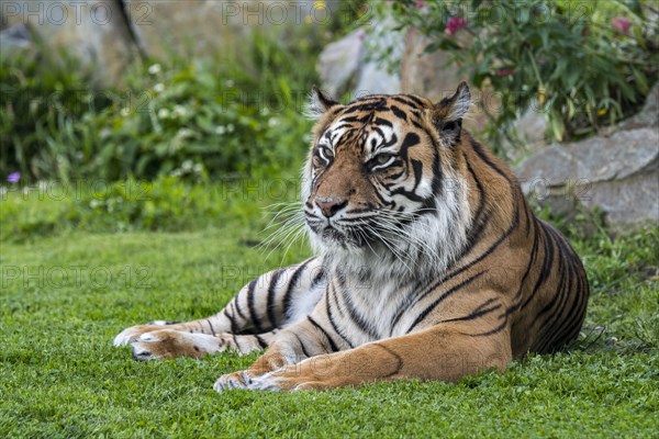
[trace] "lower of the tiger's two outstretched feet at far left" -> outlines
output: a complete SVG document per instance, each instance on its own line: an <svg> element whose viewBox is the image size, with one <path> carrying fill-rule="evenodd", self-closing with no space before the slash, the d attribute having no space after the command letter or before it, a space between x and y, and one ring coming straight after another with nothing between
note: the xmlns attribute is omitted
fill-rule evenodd
<svg viewBox="0 0 659 439"><path fill-rule="evenodd" d="M267 348L278 329L258 335L190 334L159 329L141 335L131 342L135 360L163 360L176 357L202 358L224 351L247 354Z"/></svg>

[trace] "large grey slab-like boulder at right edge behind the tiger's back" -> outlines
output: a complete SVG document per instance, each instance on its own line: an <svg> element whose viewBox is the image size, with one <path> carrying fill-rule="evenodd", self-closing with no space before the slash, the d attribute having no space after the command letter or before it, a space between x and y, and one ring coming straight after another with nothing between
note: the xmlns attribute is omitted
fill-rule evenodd
<svg viewBox="0 0 659 439"><path fill-rule="evenodd" d="M659 86L644 110L611 136L552 145L534 154L517 176L527 196L570 215L599 207L615 232L659 222Z"/></svg>

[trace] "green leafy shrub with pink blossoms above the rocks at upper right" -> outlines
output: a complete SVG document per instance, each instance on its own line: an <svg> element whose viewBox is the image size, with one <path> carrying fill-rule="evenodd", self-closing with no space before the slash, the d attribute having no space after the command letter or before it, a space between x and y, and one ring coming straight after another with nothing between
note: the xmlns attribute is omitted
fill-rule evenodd
<svg viewBox="0 0 659 439"><path fill-rule="evenodd" d="M501 98L490 137L514 139L527 109L545 113L556 140L634 113L659 71L659 22L649 1L523 0L376 3L431 37L469 81ZM655 12L650 12L657 14ZM498 105L499 106L499 105Z"/></svg>

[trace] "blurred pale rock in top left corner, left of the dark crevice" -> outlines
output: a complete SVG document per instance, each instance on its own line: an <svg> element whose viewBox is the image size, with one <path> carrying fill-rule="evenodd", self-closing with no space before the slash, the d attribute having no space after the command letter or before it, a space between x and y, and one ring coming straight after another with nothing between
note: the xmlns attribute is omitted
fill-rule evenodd
<svg viewBox="0 0 659 439"><path fill-rule="evenodd" d="M2 25L34 30L44 45L40 49L66 48L92 68L101 85L119 82L134 55L119 0L8 2L2 8ZM2 38L2 49L9 44Z"/></svg>

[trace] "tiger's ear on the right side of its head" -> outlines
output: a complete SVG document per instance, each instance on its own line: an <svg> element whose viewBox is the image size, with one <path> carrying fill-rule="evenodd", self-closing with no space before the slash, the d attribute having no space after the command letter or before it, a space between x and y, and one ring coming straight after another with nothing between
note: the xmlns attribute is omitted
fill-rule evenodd
<svg viewBox="0 0 659 439"><path fill-rule="evenodd" d="M462 119L469 112L471 93L467 82L460 82L450 98L444 98L433 106L433 124L446 145L453 146L460 142Z"/></svg>

